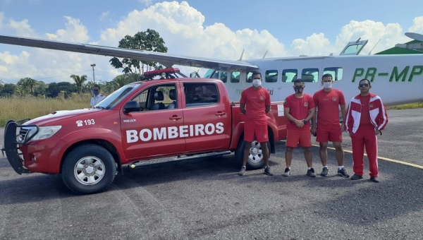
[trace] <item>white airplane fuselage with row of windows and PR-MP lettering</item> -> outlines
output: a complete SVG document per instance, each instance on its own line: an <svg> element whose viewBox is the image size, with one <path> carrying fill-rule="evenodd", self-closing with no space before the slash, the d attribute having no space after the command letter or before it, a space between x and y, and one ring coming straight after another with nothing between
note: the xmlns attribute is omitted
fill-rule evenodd
<svg viewBox="0 0 423 240"><path fill-rule="evenodd" d="M423 54L304 56L248 62L259 66L262 87L269 90L272 102L283 101L294 93L295 78L305 80L305 92L313 95L322 89L324 73L331 73L333 88L342 90L347 102L360 93L358 83L363 78L371 81L370 91L379 95L386 106L423 100ZM232 101L239 101L241 92L252 85L248 71L210 73L208 77L219 77L223 81L226 78Z"/></svg>

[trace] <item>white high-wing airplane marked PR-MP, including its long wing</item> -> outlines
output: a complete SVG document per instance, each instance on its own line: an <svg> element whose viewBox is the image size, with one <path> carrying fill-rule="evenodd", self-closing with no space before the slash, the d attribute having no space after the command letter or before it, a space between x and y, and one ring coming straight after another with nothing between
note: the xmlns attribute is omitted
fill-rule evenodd
<svg viewBox="0 0 423 240"><path fill-rule="evenodd" d="M407 32L405 35L423 42L423 35ZM419 102L423 100L423 52L422 54L358 55L366 41L350 42L340 56L297 56L250 59L247 61L218 60L193 56L177 56L160 52L104 47L91 44L75 44L51 40L0 35L0 43L26 47L39 47L68 52L80 52L103 56L125 57L156 61L173 65L209 68L205 78L219 78L226 83L231 101L239 101L240 94L252 85L251 71L262 73L262 86L271 93L272 102L285 100L293 94L293 80L305 80L305 92L313 95L320 90L321 76L331 73L333 88L343 91L345 100L359 93L358 82L367 78L372 82L372 92L381 96L386 106ZM198 74L193 74L197 75Z"/></svg>

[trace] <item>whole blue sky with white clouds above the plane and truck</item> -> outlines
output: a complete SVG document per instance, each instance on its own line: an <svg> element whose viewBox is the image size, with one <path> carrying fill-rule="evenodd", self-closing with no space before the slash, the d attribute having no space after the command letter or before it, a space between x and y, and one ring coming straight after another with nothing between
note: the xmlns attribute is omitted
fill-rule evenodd
<svg viewBox="0 0 423 240"><path fill-rule="evenodd" d="M266 51L266 57L337 55L359 37L369 40L362 54L373 47L376 53L410 41L405 32L423 34L421 0L246 2L0 0L0 35L117 47L125 35L150 28L169 54L237 60L245 49L247 60ZM95 80L105 82L122 73L110 59L0 44L0 80L72 83L72 74L92 80L96 64Z"/></svg>

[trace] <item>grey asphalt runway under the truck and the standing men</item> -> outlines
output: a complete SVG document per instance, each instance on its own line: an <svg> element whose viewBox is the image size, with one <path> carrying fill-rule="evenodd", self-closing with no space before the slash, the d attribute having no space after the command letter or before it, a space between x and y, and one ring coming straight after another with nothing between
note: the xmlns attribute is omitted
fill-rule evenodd
<svg viewBox="0 0 423 240"><path fill-rule="evenodd" d="M329 176L306 176L297 148L293 175L283 177L283 142L271 155L275 176L238 176L228 155L127 169L88 196L68 191L60 175L20 176L2 157L0 239L422 239L423 109L388 117L379 156L417 166L379 160L379 184L369 182L367 163L362 180L336 176L333 150ZM351 150L346 135L343 146ZM352 162L345 152L351 175Z"/></svg>

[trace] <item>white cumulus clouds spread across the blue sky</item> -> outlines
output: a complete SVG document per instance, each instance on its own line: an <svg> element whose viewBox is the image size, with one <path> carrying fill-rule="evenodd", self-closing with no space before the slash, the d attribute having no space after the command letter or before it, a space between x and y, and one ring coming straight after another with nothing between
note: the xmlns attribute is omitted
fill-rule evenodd
<svg viewBox="0 0 423 240"><path fill-rule="evenodd" d="M105 12L102 16L106 17L108 14L109 12ZM329 39L324 32L309 32L309 36L305 39L295 39L285 45L267 30L248 28L231 30L223 23L204 25L205 17L186 1L180 4L176 1L162 2L140 11L133 10L116 23L114 28L103 30L99 36L90 36L85 25L71 16L65 16L65 28L56 30L54 33L35 32L26 19L20 22L9 20L8 23L2 19L4 15L0 13L0 27L3 23L3 28L12 28L20 36L39 35L50 40L90 42L114 47L125 35L134 35L138 31L150 28L157 30L164 38L168 52L171 54L232 60L239 59L243 49L245 49L243 59L262 58L266 51L269 51L266 57L329 55L330 53L337 55L347 42L361 37L362 40L369 40L367 47L362 51L362 54L368 54L379 40L381 41L376 45L373 53L410 40L403 35L403 28L398 23L352 20L339 30L336 39ZM423 16L415 18L412 26L405 27L412 32L423 32ZM71 82L69 78L71 74L86 74L88 79L92 80L90 64L97 64L96 80L111 80L114 76L121 74L121 69L110 66L111 57L47 49L24 49L26 52L23 51L20 54L0 52L2 77L17 82L20 78L27 76L35 79L61 76L47 78L45 81ZM188 75L192 69L181 67L185 75Z"/></svg>

